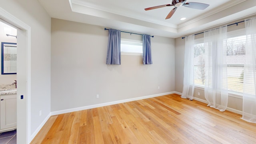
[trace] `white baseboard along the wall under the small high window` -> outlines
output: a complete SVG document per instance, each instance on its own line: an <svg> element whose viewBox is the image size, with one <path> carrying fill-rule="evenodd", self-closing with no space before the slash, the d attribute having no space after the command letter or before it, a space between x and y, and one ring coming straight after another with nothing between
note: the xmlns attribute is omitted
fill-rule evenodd
<svg viewBox="0 0 256 144"><path fill-rule="evenodd" d="M64 114L64 113L68 113L68 112L75 112L75 111L79 111L79 110L87 110L90 108L98 108L98 107L102 107L102 106L109 106L109 105L113 105L113 104L120 104L123 102L131 102L131 101L135 101L135 100L142 100L142 99L146 99L146 98L154 98L157 96L164 96L167 94L174 94L176 92L166 92L166 93L162 93L162 94L154 94L154 95L150 95L150 96L142 96L142 97L138 97L138 98L130 98L130 99L126 99L126 100L118 100L118 101L114 101L114 102L106 102L106 103L102 103L102 104L94 104L94 105L90 105L90 106L82 106L79 108L70 108L70 109L66 109L66 110L59 110L59 111L54 111L51 112L51 115L57 115L57 114Z"/></svg>

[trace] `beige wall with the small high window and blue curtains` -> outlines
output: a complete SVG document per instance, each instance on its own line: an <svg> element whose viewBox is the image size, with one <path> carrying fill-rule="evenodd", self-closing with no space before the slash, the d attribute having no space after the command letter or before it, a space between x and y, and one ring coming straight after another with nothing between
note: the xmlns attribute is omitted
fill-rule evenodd
<svg viewBox="0 0 256 144"><path fill-rule="evenodd" d="M51 38L52 112L174 91L172 38L151 38L152 65L143 65L142 56L126 55L121 65L106 65L108 31L101 26L52 18Z"/></svg>

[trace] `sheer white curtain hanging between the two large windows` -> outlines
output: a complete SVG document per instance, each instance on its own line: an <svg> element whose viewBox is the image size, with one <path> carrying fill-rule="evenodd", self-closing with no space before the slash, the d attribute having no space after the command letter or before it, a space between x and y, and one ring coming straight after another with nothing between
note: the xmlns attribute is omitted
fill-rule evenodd
<svg viewBox="0 0 256 144"><path fill-rule="evenodd" d="M227 26L204 32L204 96L208 106L221 112L228 106L226 36Z"/></svg>

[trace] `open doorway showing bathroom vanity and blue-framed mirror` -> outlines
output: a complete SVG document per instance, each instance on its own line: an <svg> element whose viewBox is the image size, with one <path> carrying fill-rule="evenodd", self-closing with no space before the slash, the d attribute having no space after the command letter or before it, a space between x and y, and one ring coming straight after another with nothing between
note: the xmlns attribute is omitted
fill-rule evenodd
<svg viewBox="0 0 256 144"><path fill-rule="evenodd" d="M0 143L16 142L17 29L0 21Z"/></svg>

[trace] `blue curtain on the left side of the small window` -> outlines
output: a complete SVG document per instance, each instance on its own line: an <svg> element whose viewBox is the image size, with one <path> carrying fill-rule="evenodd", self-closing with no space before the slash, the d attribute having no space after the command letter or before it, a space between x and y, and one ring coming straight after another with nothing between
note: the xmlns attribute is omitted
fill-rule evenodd
<svg viewBox="0 0 256 144"><path fill-rule="evenodd" d="M108 51L106 64L121 64L121 31L108 30Z"/></svg>

